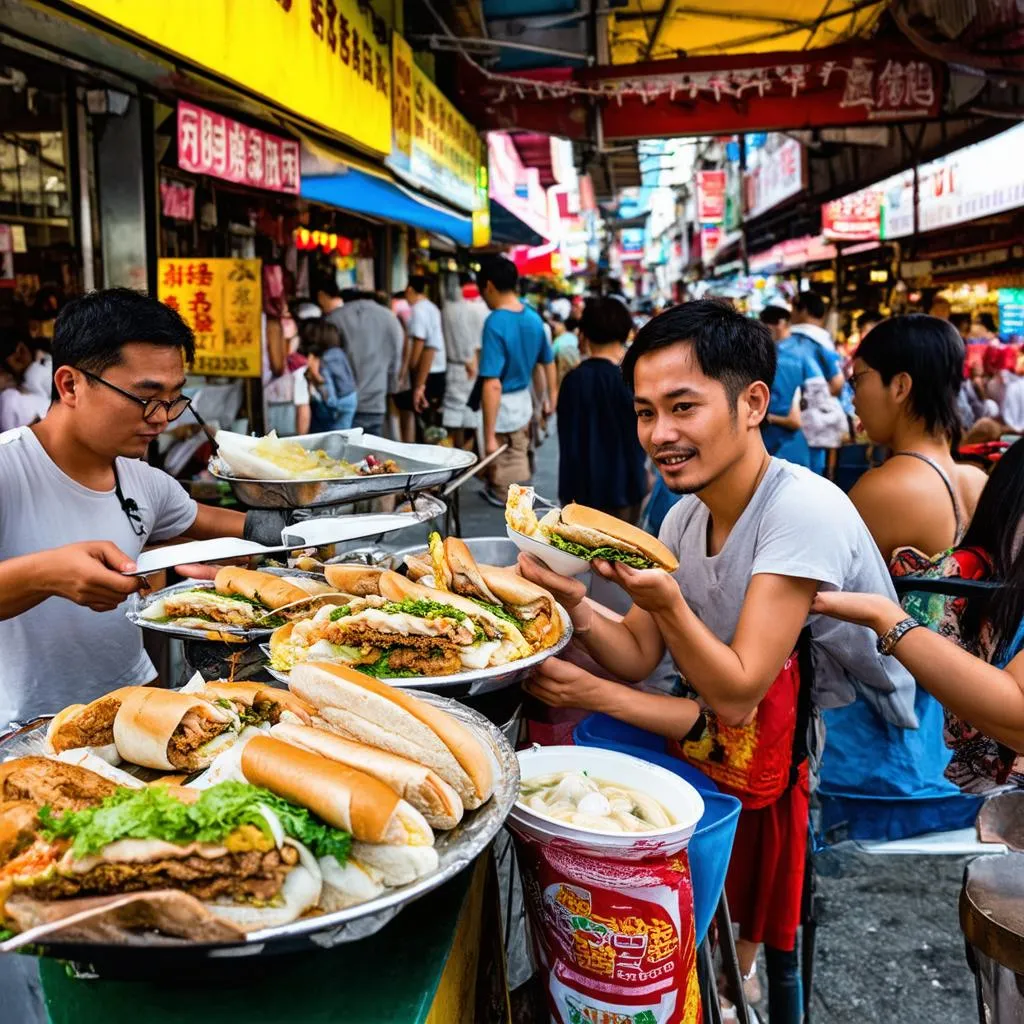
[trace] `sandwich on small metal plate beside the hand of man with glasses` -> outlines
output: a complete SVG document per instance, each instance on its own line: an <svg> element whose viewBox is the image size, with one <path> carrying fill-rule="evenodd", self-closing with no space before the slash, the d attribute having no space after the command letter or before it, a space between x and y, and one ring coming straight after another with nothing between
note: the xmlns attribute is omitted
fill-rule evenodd
<svg viewBox="0 0 1024 1024"><path fill-rule="evenodd" d="M310 594L308 581L292 580L225 566L213 587L197 587L166 594L141 612L155 623L174 623L185 629L208 629L211 624L240 629L273 629L289 620L308 615L330 595Z"/></svg>

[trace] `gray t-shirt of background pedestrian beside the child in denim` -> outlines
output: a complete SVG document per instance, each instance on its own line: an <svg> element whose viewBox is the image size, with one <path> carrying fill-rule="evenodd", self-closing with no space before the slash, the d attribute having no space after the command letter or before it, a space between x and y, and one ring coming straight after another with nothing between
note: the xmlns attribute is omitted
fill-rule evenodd
<svg viewBox="0 0 1024 1024"><path fill-rule="evenodd" d="M355 374L359 404L356 412L373 416L387 412L387 396L398 390L406 333L401 321L373 299L353 299L327 314L341 333L345 353Z"/></svg>

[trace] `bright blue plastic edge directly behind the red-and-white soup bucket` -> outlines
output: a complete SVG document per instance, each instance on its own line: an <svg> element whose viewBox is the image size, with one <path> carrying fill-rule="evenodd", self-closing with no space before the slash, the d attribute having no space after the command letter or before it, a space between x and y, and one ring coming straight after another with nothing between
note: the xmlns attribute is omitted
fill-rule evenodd
<svg viewBox="0 0 1024 1024"><path fill-rule="evenodd" d="M693 880L693 922L699 945L708 934L725 886L739 820L739 801L719 793L718 786L692 765L667 754L660 736L606 715L585 718L573 730L572 739L578 746L618 751L667 768L686 779L700 794L705 813L687 847Z"/></svg>

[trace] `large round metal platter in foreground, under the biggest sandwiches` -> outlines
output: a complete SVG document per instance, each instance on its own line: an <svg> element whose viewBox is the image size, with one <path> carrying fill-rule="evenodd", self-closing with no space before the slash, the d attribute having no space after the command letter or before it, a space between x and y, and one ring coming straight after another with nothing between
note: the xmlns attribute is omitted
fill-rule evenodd
<svg viewBox="0 0 1024 1024"><path fill-rule="evenodd" d="M512 746L498 726L482 715L455 700L432 693L421 693L422 699L446 711L453 718L471 728L494 755L497 764L495 792L490 800L475 811L467 811L462 821L450 831L435 833L435 849L440 864L425 879L387 890L376 899L333 913L301 918L290 925L250 932L244 943L208 945L197 942L169 942L160 945L114 945L101 943L43 942L32 951L43 956L57 956L92 968L95 973L111 976L156 975L182 963L204 961L219 965L220 972L230 968L231 959L245 961L293 952L304 948L330 949L344 942L355 942L380 931L403 906L425 893L443 885L469 866L498 835L519 794L519 763ZM0 761L44 753L49 716L36 719L16 732L0 737ZM123 768L131 766L122 765ZM132 768L140 778L152 779L158 772ZM247 969L244 966L243 972Z"/></svg>

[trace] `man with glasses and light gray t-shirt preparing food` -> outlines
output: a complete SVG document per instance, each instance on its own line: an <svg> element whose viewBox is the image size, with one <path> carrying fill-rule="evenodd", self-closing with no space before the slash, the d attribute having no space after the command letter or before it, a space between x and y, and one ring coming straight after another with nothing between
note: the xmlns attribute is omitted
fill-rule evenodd
<svg viewBox="0 0 1024 1024"><path fill-rule="evenodd" d="M241 512L197 505L141 459L188 409L195 340L174 310L127 289L59 315L52 404L0 434L0 728L157 673L119 605L148 546L241 537Z"/></svg>

